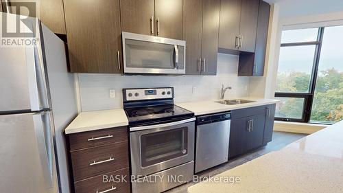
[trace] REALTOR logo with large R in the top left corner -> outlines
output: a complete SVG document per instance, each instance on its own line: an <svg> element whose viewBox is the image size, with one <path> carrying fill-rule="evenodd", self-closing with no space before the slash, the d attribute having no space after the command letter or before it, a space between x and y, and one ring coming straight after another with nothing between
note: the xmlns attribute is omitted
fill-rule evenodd
<svg viewBox="0 0 343 193"><path fill-rule="evenodd" d="M10 1L6 9L11 14L1 16L1 46L36 43L36 2Z"/></svg>

